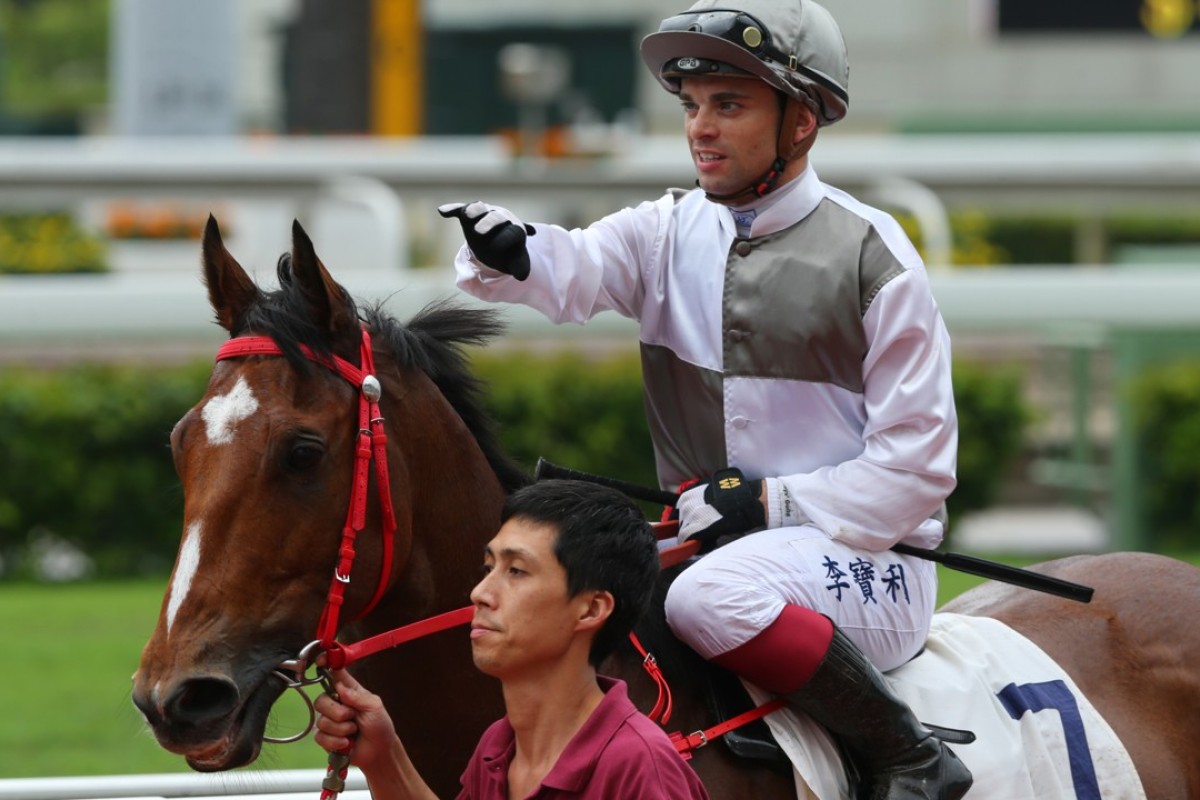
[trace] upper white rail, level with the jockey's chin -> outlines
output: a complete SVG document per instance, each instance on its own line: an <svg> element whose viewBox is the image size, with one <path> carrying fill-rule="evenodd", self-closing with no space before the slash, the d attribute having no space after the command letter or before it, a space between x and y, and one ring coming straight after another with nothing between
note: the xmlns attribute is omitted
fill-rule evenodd
<svg viewBox="0 0 1200 800"><path fill-rule="evenodd" d="M853 193L904 178L947 206L1088 210L1200 204L1198 134L822 134L814 163ZM577 205L630 203L694 180L682 137L643 137L598 158L514 160L498 139L0 139L0 205L80 193L300 197L359 175L401 197L448 191Z"/></svg>

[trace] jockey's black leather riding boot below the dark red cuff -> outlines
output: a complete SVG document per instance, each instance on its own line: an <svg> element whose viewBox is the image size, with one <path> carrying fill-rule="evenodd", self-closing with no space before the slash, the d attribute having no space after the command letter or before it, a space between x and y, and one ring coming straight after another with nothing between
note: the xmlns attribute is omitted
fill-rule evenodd
<svg viewBox="0 0 1200 800"><path fill-rule="evenodd" d="M836 627L812 678L786 700L850 751L862 776L859 799L958 800L971 788L966 765Z"/></svg>

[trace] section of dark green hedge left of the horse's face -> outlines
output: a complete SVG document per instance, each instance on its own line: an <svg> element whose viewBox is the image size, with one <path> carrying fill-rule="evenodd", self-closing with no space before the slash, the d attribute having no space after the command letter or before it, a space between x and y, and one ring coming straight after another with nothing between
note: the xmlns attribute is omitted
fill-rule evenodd
<svg viewBox="0 0 1200 800"><path fill-rule="evenodd" d="M182 500L172 426L203 393L210 365L0 371L0 555L14 571L49 533L103 576L164 572Z"/></svg>

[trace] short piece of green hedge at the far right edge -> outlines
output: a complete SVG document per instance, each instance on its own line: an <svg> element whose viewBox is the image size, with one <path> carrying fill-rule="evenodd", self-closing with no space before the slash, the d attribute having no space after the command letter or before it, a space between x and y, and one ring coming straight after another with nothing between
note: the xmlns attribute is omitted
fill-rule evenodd
<svg viewBox="0 0 1200 800"><path fill-rule="evenodd" d="M1138 492L1156 548L1195 548L1200 531L1200 361L1144 372L1130 386Z"/></svg>

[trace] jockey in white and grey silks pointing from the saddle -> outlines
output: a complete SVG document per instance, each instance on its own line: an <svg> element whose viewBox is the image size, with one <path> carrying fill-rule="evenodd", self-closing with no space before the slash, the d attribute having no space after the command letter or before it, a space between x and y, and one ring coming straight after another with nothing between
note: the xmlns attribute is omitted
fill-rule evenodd
<svg viewBox="0 0 1200 800"><path fill-rule="evenodd" d="M707 553L672 630L828 729L860 796L961 798L968 770L880 672L929 632L935 565L889 548L941 542L958 417L916 248L809 163L848 107L841 32L811 0L701 0L641 54L679 97L697 188L576 230L443 205L458 285L640 320L659 481Z"/></svg>

